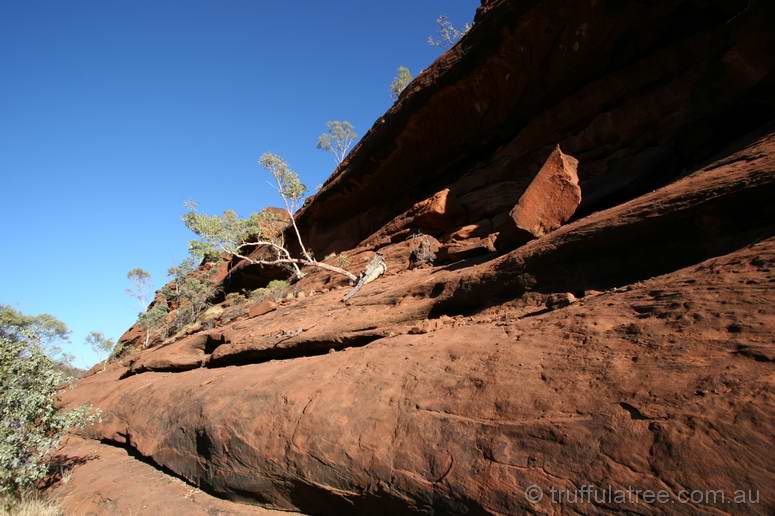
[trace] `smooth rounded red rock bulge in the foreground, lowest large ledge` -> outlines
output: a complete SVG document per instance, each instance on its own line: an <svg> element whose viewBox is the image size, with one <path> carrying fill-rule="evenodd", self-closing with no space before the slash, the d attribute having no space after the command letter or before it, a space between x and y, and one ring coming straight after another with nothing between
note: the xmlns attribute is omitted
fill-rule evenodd
<svg viewBox="0 0 775 516"><path fill-rule="evenodd" d="M321 514L604 512L525 489L756 490L772 444L775 240L562 310L499 307L317 357L117 381L70 394L96 436L202 489ZM748 283L755 282L755 283ZM730 328L739 328L730 330ZM647 504L610 509L661 513Z"/></svg>

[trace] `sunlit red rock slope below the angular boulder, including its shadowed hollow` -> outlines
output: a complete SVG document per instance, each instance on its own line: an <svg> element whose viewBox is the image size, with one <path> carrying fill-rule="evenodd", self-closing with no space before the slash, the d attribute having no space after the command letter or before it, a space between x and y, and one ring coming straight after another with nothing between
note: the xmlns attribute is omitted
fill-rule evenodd
<svg viewBox="0 0 775 516"><path fill-rule="evenodd" d="M663 490L685 514L714 507L681 503L685 489L759 491L759 504L716 507L766 514L772 205L745 212L757 216L748 232L701 234L699 248L683 239L638 270L625 257L708 212L734 227L731 214L774 185L767 136L502 258L402 271L351 306L343 289L305 297L219 329L214 349L202 335L147 350L65 396L103 408L90 437L243 503L321 514L663 512L525 498L532 485L594 484ZM612 238L608 261L597 259L608 270L579 274L595 263L577 259L583 246ZM604 291L555 303L592 289ZM187 369L192 352L205 367L166 362Z"/></svg>

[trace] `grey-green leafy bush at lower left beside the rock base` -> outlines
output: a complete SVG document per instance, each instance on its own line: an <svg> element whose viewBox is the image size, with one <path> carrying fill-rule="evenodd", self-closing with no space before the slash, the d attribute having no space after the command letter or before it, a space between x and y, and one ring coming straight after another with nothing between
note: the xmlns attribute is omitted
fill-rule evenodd
<svg viewBox="0 0 775 516"><path fill-rule="evenodd" d="M46 474L49 452L73 427L93 422L88 407L57 408L64 375L27 330L0 336L0 492L18 495Z"/></svg>

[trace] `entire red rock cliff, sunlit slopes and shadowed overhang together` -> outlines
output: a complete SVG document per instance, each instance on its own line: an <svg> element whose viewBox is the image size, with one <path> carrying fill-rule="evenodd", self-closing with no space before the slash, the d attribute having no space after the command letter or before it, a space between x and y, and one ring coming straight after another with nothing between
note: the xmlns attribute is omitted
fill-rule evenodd
<svg viewBox="0 0 775 516"><path fill-rule="evenodd" d="M71 514L775 513L773 19L484 2L301 213L327 261L379 250L386 274L345 304L310 270L95 369L62 397L102 420L52 493Z"/></svg>

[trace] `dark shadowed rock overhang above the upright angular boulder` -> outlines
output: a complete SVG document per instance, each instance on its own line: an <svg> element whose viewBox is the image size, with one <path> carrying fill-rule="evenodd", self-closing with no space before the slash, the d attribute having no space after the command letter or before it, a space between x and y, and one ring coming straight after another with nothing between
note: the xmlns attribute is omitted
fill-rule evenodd
<svg viewBox="0 0 775 516"><path fill-rule="evenodd" d="M351 249L446 189L443 216L413 227L497 233L558 144L581 163L583 213L651 191L775 116L774 18L748 0L487 2L304 208L302 232L322 255Z"/></svg>

